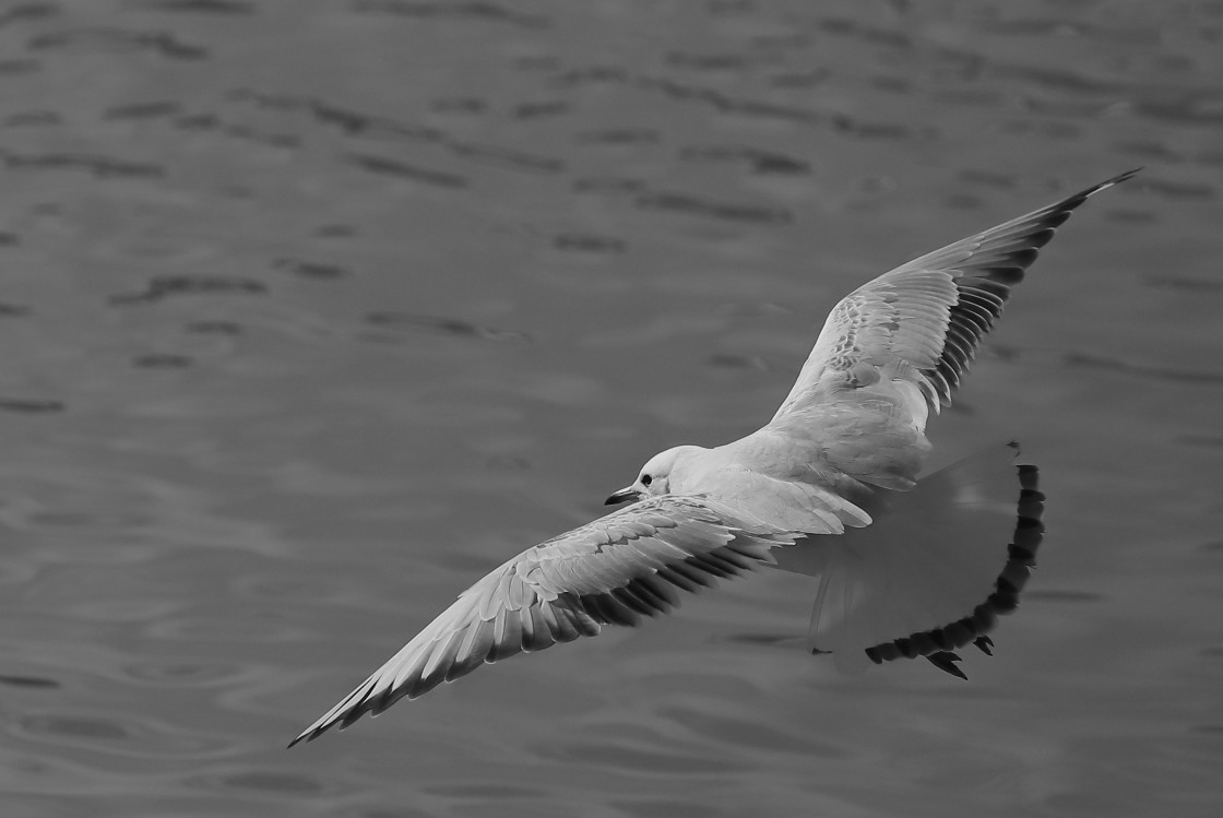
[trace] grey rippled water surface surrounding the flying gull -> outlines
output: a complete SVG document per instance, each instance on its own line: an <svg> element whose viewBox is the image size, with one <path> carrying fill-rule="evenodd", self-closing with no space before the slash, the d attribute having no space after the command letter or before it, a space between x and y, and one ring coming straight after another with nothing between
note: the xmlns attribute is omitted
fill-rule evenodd
<svg viewBox="0 0 1223 818"><path fill-rule="evenodd" d="M9 4L0 812L1223 814L1221 40L1217 0ZM763 573L283 750L756 428L840 295L1135 165L936 429L1049 494L967 684L837 675Z"/></svg>

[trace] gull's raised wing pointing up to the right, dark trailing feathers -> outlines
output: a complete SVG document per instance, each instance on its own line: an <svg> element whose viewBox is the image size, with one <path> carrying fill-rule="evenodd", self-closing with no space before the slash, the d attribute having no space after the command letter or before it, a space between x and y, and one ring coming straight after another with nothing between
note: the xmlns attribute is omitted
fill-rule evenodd
<svg viewBox="0 0 1223 818"><path fill-rule="evenodd" d="M1040 248L1088 197L1136 172L901 264L848 295L829 313L773 422L822 400L822 381L826 389L856 385L884 367L916 383L929 408L949 406L977 345Z"/></svg>

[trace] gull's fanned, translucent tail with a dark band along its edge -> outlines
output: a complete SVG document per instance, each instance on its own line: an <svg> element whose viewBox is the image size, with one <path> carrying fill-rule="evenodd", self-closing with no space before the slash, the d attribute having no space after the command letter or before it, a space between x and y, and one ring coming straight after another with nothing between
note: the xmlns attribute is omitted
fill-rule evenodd
<svg viewBox="0 0 1223 818"><path fill-rule="evenodd" d="M1014 610L1035 565L1044 496L1018 448L996 446L888 493L867 528L818 537L778 554L779 567L819 576L810 647L861 672L928 658L963 677L954 648L982 650L998 614Z"/></svg>

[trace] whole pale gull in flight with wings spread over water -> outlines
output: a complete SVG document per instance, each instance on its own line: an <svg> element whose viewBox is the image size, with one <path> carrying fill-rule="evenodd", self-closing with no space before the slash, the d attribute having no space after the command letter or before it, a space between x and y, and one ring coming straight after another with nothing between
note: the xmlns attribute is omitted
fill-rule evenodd
<svg viewBox="0 0 1223 818"><path fill-rule="evenodd" d="M901 264L828 315L780 408L745 438L651 457L612 514L479 580L290 747L484 664L669 613L758 566L818 577L813 653L856 672L955 649L1014 610L1041 543L1035 466L998 445L933 473L949 406L1011 287L1071 212L1121 174Z"/></svg>

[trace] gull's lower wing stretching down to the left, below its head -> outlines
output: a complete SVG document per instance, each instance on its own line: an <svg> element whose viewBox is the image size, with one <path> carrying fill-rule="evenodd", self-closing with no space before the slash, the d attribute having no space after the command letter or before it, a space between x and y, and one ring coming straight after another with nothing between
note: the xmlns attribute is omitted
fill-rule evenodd
<svg viewBox="0 0 1223 818"><path fill-rule="evenodd" d="M620 509L522 551L465 591L290 747L482 664L668 613L680 602L676 589L773 564L769 550L793 544L785 531L702 498L663 495Z"/></svg>

